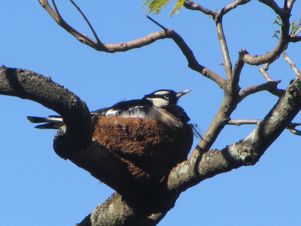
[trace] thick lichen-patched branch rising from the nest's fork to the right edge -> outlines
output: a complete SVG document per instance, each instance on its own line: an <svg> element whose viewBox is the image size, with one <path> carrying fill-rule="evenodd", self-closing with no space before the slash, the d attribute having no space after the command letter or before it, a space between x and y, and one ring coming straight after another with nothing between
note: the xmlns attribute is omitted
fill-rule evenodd
<svg viewBox="0 0 301 226"><path fill-rule="evenodd" d="M173 168L168 178L169 190L184 191L206 178L254 165L300 110L301 77L297 77L248 137L225 149L195 155Z"/></svg>

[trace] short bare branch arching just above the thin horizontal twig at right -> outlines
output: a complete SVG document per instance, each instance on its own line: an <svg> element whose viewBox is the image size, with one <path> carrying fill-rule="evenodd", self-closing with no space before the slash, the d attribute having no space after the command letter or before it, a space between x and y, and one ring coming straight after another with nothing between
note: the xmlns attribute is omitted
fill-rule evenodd
<svg viewBox="0 0 301 226"><path fill-rule="evenodd" d="M241 102L244 98L246 98L247 96L254 94L254 93L258 93L260 91L264 91L267 90L268 92L280 97L283 93L284 90L283 89L278 89L277 85L281 82L281 80L278 81L268 81L266 83L262 83L262 84L258 84L258 85L254 85L254 86L249 86L246 89L240 91L238 93L238 100L237 102Z"/></svg>

